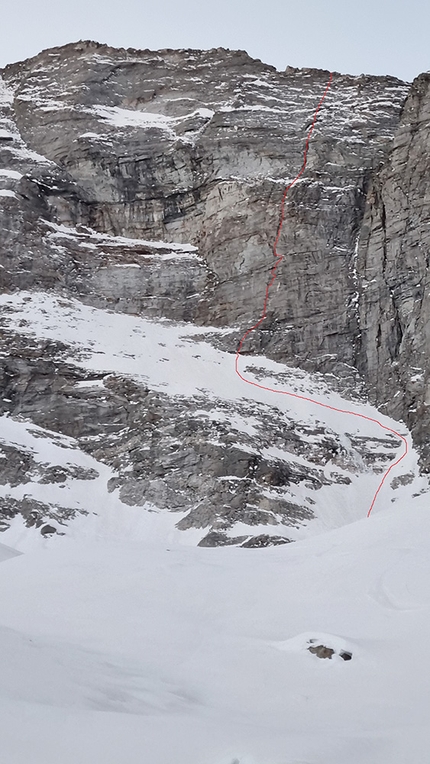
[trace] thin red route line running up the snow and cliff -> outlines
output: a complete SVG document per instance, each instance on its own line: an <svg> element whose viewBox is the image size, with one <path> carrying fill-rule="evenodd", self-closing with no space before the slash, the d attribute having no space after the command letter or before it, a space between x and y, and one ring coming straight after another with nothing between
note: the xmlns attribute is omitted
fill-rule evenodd
<svg viewBox="0 0 430 764"><path fill-rule="evenodd" d="M337 408L336 406L330 406L328 403L321 403L321 401L317 401L314 398L309 398L306 395L299 395L298 393L292 393L292 392L289 392L288 390L277 390L276 388L273 388L273 387L266 387L265 385L260 385L258 382L255 382L252 379L247 379L239 371L239 358L240 358L240 354L242 352L243 343L245 342L246 338L252 332L254 332L260 326L260 324L263 323L263 321L267 317L267 303L269 301L269 292L270 292L270 289L271 289L271 287L273 286L273 284L275 282L276 274L277 274L277 271L278 271L278 267L281 264L282 260L284 259L284 255L280 255L279 254L279 252L277 250L277 247L278 247L279 239L280 239L280 236L281 236L281 233L282 233L282 226L284 225L284 220L285 220L285 200L287 198L287 194L288 194L290 188L292 188L292 186L294 186L294 184L297 183L297 181L299 180L299 178L301 177L301 175L305 171L306 164L307 164L307 161L308 161L309 143L310 143L310 139L311 139L312 133L313 133L314 128L315 128L315 123L317 121L318 112L321 109L321 106L322 106L322 104L324 102L324 99L325 99L325 97L326 97L326 95L327 95L327 93L329 91L329 88L330 88L330 85L332 83L332 80L333 80L333 73L330 74L330 77L329 77L328 83L326 85L326 88L324 90L324 93L323 93L323 95L321 97L321 100L320 100L318 106L315 109L314 117L313 117L313 120L312 120L312 124L311 124L311 126L310 126L310 128L308 130L308 134L307 134L307 138L306 138L305 149L304 149L304 152L303 152L303 164L302 164L302 166L300 168L300 171L297 173L297 175L294 178L294 180L292 180L291 183L289 183L285 187L285 189L284 189L284 193L282 195L282 200L281 200L281 209L280 209L280 214L279 214L278 228L277 228L277 231L276 231L275 241L273 243L273 256L275 258L275 262L274 262L274 264L272 266L272 269L270 271L270 279L269 279L269 282L268 282L268 284L266 286L266 292L265 292L264 303L263 303L263 310L262 310L261 316L258 319L258 321L253 326L250 326L249 329L246 330L245 334L243 335L243 337L241 338L241 340L240 340L240 342L238 344L237 352L236 352L236 358L235 358L235 371L236 371L236 374L238 375L238 377L240 377L240 379L243 382L246 382L248 385L252 385L253 387L258 387L260 390L266 390L269 393L276 393L278 395L289 395L290 398L297 398L297 399L299 399L301 401L307 401L308 403L313 403L315 406L321 406L321 408L330 409L330 411L337 411L339 414L350 414L350 416L356 416L356 417L359 417L360 419L366 419L368 422L374 422L375 424L377 424L379 427L381 427L386 432L391 432L393 435L395 435L397 438L399 438L399 440L403 441L404 452L401 454L401 456L399 456L398 459L396 459L396 461L392 462L390 464L390 466L388 467L388 469L384 472L384 474L383 474L383 476L382 476L382 478L381 478L381 480L379 482L379 485L378 485L378 487L377 487L377 489L376 489L376 491L375 491L375 493L373 495L372 502L371 502L369 510L367 512L367 517L369 517L370 513L372 512L373 507L375 506L375 502L376 502L376 499L378 498L378 494L379 494L382 486L384 485L388 475L390 474L391 470L393 469L393 467L396 467L397 464L400 464L402 459L404 459L406 454L408 453L408 450L409 450L408 441L406 440L405 436L401 435L399 432L397 432L397 430L393 430L391 427L387 427L387 425L385 425L382 422L380 422L379 419L374 419L373 417L366 416L365 414L359 414L358 412L350 411L349 409L340 409L340 408Z"/></svg>

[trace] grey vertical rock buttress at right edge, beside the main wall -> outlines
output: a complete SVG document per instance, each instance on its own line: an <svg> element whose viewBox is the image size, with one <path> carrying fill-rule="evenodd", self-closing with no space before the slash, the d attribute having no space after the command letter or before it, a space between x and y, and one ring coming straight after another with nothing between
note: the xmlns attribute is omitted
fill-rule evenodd
<svg viewBox="0 0 430 764"><path fill-rule="evenodd" d="M357 257L359 368L372 399L412 428L430 468L430 74L413 83L372 178Z"/></svg>

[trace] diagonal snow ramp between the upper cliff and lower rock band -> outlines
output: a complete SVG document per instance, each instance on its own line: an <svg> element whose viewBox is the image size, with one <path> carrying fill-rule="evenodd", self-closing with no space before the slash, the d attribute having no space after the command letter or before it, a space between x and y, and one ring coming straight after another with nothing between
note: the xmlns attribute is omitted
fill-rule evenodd
<svg viewBox="0 0 430 764"><path fill-rule="evenodd" d="M285 416L286 425L293 423L296 428L306 427L317 432L319 427L324 433L335 437L349 455L349 465L344 467L329 461L323 467L323 474L329 485L324 485L314 493L312 499L316 519L311 523L288 527L288 538L302 538L319 533L347 522L364 517L369 509L373 494L380 482L381 474L386 469L390 457L403 452L402 444L396 446L396 439L374 422L359 417L313 406L305 400L274 395L271 392L244 383L234 374L234 357L221 351L210 342L220 330L202 329L188 323L171 321L155 322L141 317L113 313L83 305L78 300L58 297L43 292L19 292L0 296L0 307L4 313L4 325L9 332L35 337L37 340L61 342L67 350L64 360L67 363L97 372L101 376L112 372L125 374L152 390L179 396L187 400L204 400L209 405L208 415L214 419L225 417L221 404L228 404L231 411L229 418L240 442L243 433L249 433L261 424L256 418L269 411L278 418ZM230 331L230 330L229 330ZM246 375L269 387L291 390L332 406L349 409L358 414L376 418L391 429L400 430L408 438L404 425L393 422L372 406L364 402L345 401L339 394L330 390L322 377L310 375L300 369L288 368L270 361L265 357L252 356L241 359ZM82 384L82 383L81 383ZM103 399L101 383L100 398ZM253 404L252 413L246 408ZM255 406L255 404L257 404ZM241 415L235 410L241 406ZM260 413L259 413L260 412ZM188 416L192 416L190 412ZM48 433L49 435L49 433ZM51 434L52 435L52 434ZM308 440L318 440L317 435L308 435ZM365 443L368 454L374 454L374 463L366 466L362 455L357 450L356 442ZM410 439L409 439L410 440ZM411 444L410 444L411 445ZM75 445L76 448L76 445ZM241 444L241 448L243 448ZM397 449L397 450L396 450ZM267 458L284 459L287 463L296 463L300 467L315 468L306 459L291 454L273 445L260 449ZM84 457L88 459L88 457ZM388 462L387 462L388 458ZM60 460L61 463L61 460ZM100 475L107 477L106 467L96 467ZM333 475L340 479L333 484ZM392 484L394 477L408 476L405 484ZM346 479L346 482L342 480ZM375 512L390 506L392 502L408 500L414 493L427 485L419 477L417 454L412 447L408 456L390 474L383 492L375 506ZM94 483L95 490L100 490L100 483ZM21 498L23 489L6 489L9 496ZM42 486L36 486L33 495L41 498ZM306 500L301 485L289 486L288 498L302 502ZM70 493L52 487L57 501L64 505L64 499L70 500ZM85 487L81 492L84 496ZM103 490L106 495L106 490ZM105 503L106 499L104 499ZM109 499L111 501L111 499ZM70 506L70 505L67 505ZM254 531L256 529L254 528ZM279 526L263 526L261 532L279 533ZM249 532L248 528L235 526L235 533ZM204 532L202 531L202 535Z"/></svg>

